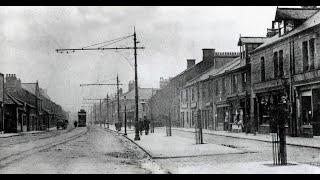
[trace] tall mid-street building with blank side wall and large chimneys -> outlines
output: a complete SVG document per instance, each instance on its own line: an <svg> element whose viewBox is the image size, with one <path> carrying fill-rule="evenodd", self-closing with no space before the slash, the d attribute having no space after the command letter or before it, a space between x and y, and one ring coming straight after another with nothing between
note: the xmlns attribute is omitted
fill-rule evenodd
<svg viewBox="0 0 320 180"><path fill-rule="evenodd" d="M189 96L189 94L184 94L188 92L181 91L186 83L211 67L220 68L239 56L237 53L215 52L215 49L203 49L202 52L202 61L195 64L195 59L187 59L187 69L171 78L167 86L157 91L151 98L152 112L150 114L154 119L164 121L170 114L173 126L184 126L185 117L181 117L183 114L180 111L186 107L180 107L180 99Z"/></svg>

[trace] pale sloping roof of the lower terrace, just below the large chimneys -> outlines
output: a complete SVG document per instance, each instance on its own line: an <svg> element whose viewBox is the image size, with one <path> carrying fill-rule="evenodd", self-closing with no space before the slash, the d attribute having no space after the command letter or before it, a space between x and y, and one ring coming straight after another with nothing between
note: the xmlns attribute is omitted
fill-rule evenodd
<svg viewBox="0 0 320 180"><path fill-rule="evenodd" d="M202 73L202 74L196 76L195 78L191 79L190 81L188 81L185 86L190 86L196 82L208 79L209 76L222 74L227 70L233 70L235 68L238 68L238 67L240 67L240 59L241 59L240 57L237 57L218 69L212 67L212 68L208 69L207 71L205 71L204 73Z"/></svg>

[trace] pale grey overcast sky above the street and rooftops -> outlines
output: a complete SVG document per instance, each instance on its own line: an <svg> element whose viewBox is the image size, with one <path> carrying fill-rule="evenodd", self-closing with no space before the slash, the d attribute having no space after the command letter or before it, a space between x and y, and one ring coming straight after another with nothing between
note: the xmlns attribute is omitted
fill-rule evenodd
<svg viewBox="0 0 320 180"><path fill-rule="evenodd" d="M80 87L114 83L124 91L134 79L133 50L58 54L57 48L86 45L130 35L136 27L141 87L159 87L160 77L186 68L186 59L202 59L202 48L238 51L242 36L265 36L276 7L0 7L0 72L22 82L39 81L52 100L78 110L83 97L103 98L116 87ZM133 46L128 39L115 46Z"/></svg>

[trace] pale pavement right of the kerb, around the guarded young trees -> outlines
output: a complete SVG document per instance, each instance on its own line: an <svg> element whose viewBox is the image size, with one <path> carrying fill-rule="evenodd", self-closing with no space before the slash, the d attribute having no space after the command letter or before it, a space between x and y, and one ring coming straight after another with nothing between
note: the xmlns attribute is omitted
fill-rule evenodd
<svg viewBox="0 0 320 180"><path fill-rule="evenodd" d="M123 128L120 132L116 131L114 126L109 128L123 135ZM194 129L172 128L173 130L193 132ZM251 139L255 141L271 142L270 135L251 135L245 133L229 133L229 132L212 132L204 130L204 134L213 134L218 136L227 136L241 139ZM166 136L165 128L156 128L155 133L149 135L140 135L139 141L134 141L134 131L127 131L127 137L133 143L145 150L156 162L162 167L166 167L167 171L174 174L318 174L320 167L306 163L288 162L286 166L275 166L272 161L250 161L250 162L219 162L207 163L203 160L194 161L195 159L212 158L219 156L236 157L239 154L254 153L241 148L232 148L222 146L221 144L207 143L195 144L195 139L189 137ZM296 140L295 142L293 142ZM318 147L318 137L309 138L293 138L287 137L290 144L297 146ZM310 144L309 144L310 143ZM319 146L320 147L320 146ZM250 156L250 154L248 154ZM178 159L176 159L178 158ZM179 160L181 159L181 161ZM175 161L179 160L179 163ZM170 164L168 164L168 162ZM175 165L171 165L175 164Z"/></svg>

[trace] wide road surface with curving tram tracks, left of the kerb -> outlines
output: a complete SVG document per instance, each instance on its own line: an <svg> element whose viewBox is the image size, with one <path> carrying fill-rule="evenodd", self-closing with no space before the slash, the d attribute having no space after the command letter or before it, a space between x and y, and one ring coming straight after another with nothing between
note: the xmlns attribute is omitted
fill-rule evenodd
<svg viewBox="0 0 320 180"><path fill-rule="evenodd" d="M0 174L151 173L141 165L149 161L141 149L124 137L99 127L76 128L33 143L24 141L20 140L23 143L8 147L11 150L19 149L13 155L8 154L6 149L1 149L1 156L5 160L0 159ZM41 148L36 148L38 146ZM10 158L3 154L11 155L11 160L7 160ZM5 161L8 162L4 163Z"/></svg>

